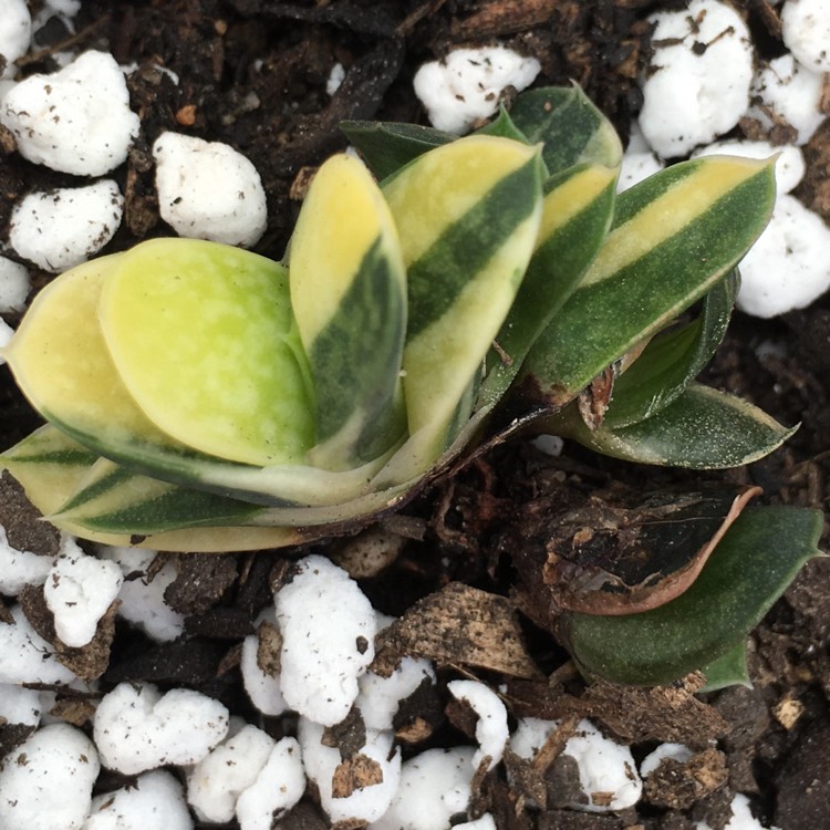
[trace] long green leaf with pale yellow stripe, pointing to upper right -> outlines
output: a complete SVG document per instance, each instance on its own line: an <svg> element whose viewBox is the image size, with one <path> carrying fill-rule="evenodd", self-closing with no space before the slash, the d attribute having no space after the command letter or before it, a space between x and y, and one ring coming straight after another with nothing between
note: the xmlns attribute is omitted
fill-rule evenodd
<svg viewBox="0 0 830 830"><path fill-rule="evenodd" d="M599 256L525 361L523 391L568 403L714 288L774 201L772 162L728 156L675 165L620 194Z"/></svg>

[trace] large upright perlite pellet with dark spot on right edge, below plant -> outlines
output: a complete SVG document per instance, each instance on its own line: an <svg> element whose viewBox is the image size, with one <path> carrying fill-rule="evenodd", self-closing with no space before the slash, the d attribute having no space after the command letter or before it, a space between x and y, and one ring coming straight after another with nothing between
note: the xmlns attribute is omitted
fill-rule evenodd
<svg viewBox="0 0 830 830"><path fill-rule="evenodd" d="M376 621L357 583L321 556L297 564L274 596L282 633L280 684L289 707L323 726L339 724L374 658Z"/></svg>

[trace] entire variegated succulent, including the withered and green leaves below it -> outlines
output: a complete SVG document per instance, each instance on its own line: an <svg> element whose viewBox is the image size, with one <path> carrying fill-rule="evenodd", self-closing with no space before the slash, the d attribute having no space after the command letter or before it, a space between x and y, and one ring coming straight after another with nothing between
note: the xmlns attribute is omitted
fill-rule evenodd
<svg viewBox="0 0 830 830"><path fill-rule="evenodd" d="M616 196L619 138L572 89L521 95L460 139L344 129L366 164L320 168L283 262L158 239L33 302L4 356L49 423L1 460L59 528L289 546L367 523L519 428L696 469L790 434L694 380L769 218L772 162L703 158ZM744 510L750 495L562 515L550 536L567 543L513 553L549 592L536 616L589 675L739 681L747 633L821 523ZM644 547L605 561L603 533L625 528Z"/></svg>

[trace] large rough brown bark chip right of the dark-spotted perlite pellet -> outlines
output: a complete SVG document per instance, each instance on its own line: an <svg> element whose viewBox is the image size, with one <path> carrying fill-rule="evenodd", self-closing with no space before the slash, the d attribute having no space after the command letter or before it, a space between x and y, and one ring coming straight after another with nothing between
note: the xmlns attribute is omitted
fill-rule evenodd
<svg viewBox="0 0 830 830"><path fill-rule="evenodd" d="M460 582L425 596L385 629L370 668L387 677L404 656L513 677L540 676L525 649L511 602Z"/></svg>

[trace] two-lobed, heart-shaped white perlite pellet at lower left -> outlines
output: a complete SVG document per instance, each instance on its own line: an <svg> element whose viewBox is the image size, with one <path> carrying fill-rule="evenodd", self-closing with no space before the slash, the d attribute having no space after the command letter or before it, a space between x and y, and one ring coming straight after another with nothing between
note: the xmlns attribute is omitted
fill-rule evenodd
<svg viewBox="0 0 830 830"><path fill-rule="evenodd" d="M104 695L94 719L102 764L124 775L197 764L227 732L228 710L218 701L188 688L163 696L151 684L120 684Z"/></svg>

